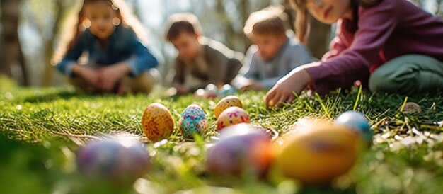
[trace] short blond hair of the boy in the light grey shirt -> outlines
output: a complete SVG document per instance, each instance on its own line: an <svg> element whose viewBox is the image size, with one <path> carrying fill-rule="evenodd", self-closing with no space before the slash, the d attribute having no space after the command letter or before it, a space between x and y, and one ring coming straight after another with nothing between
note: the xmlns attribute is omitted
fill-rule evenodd
<svg viewBox="0 0 443 194"><path fill-rule="evenodd" d="M252 33L262 35L276 34L284 35L285 27L284 20L286 20L283 6L270 6L260 11L251 13L246 20L243 33L251 38Z"/></svg>

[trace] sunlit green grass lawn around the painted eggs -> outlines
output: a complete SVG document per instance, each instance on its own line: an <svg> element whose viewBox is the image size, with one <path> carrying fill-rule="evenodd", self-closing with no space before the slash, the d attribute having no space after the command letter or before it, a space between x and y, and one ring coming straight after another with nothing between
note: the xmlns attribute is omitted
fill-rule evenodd
<svg viewBox="0 0 443 194"><path fill-rule="evenodd" d="M374 146L350 173L330 188L304 188L271 176L220 178L205 173L205 144L215 132L217 101L192 96L87 96L69 89L21 89L0 86L0 193L439 193L443 190L442 93L417 96L371 94L352 89L325 98L301 96L293 105L267 110L265 93L240 93L254 125L283 135L299 118L334 119L345 110L362 111L371 121ZM422 113L405 115L405 100L420 104ZM190 104L200 105L209 118L209 132L185 142L176 130L168 142L151 144L140 121L150 103L163 103L174 120ZM134 186L109 186L85 180L74 159L80 144L104 134L129 132L146 142L153 165ZM209 188L212 186L213 188ZM230 188L234 188L231 190ZM135 190L135 191L134 191ZM143 193L143 192L142 192Z"/></svg>

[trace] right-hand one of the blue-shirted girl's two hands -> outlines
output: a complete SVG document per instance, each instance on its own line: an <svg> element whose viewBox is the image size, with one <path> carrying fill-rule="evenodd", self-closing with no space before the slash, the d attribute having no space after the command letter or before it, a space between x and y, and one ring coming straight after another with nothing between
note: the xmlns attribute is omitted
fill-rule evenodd
<svg viewBox="0 0 443 194"><path fill-rule="evenodd" d="M105 91L111 91L115 83L130 72L127 64L113 64L109 67L100 69L100 88Z"/></svg>

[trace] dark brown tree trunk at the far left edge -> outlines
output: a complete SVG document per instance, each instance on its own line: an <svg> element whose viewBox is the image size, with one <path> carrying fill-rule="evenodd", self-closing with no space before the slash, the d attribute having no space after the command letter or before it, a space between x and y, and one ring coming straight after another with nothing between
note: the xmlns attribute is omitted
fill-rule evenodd
<svg viewBox="0 0 443 194"><path fill-rule="evenodd" d="M0 74L12 76L21 85L28 86L25 59L18 38L18 16L20 14L20 0L1 0L1 25L3 31L0 41ZM18 71L16 71L18 69Z"/></svg>

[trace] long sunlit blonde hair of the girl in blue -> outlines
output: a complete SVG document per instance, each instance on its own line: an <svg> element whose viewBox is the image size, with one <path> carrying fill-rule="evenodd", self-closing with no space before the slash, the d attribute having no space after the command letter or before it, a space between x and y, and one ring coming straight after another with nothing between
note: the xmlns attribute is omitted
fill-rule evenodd
<svg viewBox="0 0 443 194"><path fill-rule="evenodd" d="M129 6L122 0L84 0L78 1L76 5L77 17L76 20L74 17L71 18L71 21L67 22L67 28L64 30L67 33L63 33L63 37L60 41L59 47L57 47L56 52L52 57L51 63L57 64L62 57L69 52L69 50L74 47L75 43L79 40L81 33L84 32L91 25L91 21L84 16L84 9L87 4L97 2L97 1L105 1L108 3L117 14L117 19L113 20L114 25L122 25L125 28L132 30L132 32L137 36L137 38L144 44L147 45L148 35L146 30L143 28L142 23L134 16ZM70 33L69 33L70 32Z"/></svg>

